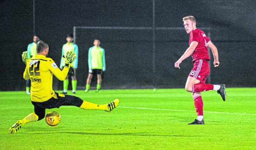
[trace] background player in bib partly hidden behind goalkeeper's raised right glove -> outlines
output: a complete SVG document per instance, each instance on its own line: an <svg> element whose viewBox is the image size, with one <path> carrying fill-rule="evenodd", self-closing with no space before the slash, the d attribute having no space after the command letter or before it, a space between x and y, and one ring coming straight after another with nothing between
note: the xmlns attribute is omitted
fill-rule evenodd
<svg viewBox="0 0 256 150"><path fill-rule="evenodd" d="M76 68L78 64L78 46L76 44L73 44L73 34L67 35L66 37L67 43L63 45L62 47L62 55L66 55L66 52L73 51L76 53L76 59L74 60L73 64L71 64L71 69L69 69L69 73L66 76L65 80L63 81L63 92L62 94L68 93L68 86L69 86L69 75L71 75L71 83L72 83L72 92L73 94L76 94ZM64 59L61 59L60 62L60 68L63 69L65 66Z"/></svg>

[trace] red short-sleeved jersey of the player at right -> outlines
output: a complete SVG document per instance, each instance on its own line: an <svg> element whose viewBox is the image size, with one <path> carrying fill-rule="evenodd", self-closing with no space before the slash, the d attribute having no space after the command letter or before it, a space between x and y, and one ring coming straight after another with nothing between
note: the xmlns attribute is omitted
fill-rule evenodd
<svg viewBox="0 0 256 150"><path fill-rule="evenodd" d="M199 59L206 59L207 61L211 60L208 54L208 45L207 45L207 43L210 41L209 37L207 37L202 30L196 29L190 33L190 44L193 41L198 42L196 49L191 54L193 58L193 62Z"/></svg>

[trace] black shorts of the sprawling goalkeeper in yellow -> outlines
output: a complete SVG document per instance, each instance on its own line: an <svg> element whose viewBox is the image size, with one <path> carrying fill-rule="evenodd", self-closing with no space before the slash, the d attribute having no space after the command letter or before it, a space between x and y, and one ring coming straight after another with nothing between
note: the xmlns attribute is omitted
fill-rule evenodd
<svg viewBox="0 0 256 150"><path fill-rule="evenodd" d="M60 106L77 106L83 104L83 100L72 95L64 95L55 92L55 95L45 102L33 102L34 111L38 115L38 120L45 118L45 109L59 108Z"/></svg>

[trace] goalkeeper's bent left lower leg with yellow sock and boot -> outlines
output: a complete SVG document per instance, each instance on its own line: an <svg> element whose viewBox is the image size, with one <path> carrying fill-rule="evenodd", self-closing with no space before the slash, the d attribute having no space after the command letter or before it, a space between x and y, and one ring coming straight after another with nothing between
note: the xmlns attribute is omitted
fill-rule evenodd
<svg viewBox="0 0 256 150"><path fill-rule="evenodd" d="M9 134L16 133L23 125L25 125L28 122L33 122L38 120L38 115L35 113L31 113L28 116L26 116L23 120L18 120L12 127L9 129Z"/></svg>

